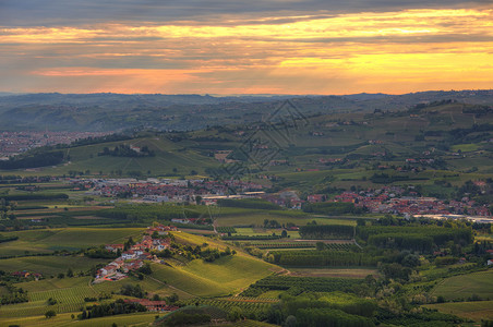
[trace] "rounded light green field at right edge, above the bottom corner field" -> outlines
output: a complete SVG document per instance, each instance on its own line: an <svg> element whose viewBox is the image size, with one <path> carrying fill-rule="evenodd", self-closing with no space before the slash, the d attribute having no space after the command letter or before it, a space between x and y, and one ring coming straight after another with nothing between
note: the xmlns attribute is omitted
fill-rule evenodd
<svg viewBox="0 0 493 327"><path fill-rule="evenodd" d="M446 300L467 300L472 294L481 299L493 299L493 270L446 278L433 289L432 294L442 295Z"/></svg>

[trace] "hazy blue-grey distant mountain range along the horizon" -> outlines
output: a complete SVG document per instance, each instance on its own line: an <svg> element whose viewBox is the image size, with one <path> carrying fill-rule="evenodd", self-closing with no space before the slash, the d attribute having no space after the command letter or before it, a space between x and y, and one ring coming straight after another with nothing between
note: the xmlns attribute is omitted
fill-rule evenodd
<svg viewBox="0 0 493 327"><path fill-rule="evenodd" d="M421 92L405 95L209 96L160 94L9 94L0 93L0 130L190 131L209 125L261 121L286 100L299 113L402 110L417 104L453 99L493 105L493 90Z"/></svg>

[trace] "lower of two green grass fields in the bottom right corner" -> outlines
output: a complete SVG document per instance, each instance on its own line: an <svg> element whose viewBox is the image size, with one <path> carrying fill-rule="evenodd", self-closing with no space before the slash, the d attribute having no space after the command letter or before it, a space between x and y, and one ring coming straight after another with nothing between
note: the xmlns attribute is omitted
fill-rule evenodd
<svg viewBox="0 0 493 327"><path fill-rule="evenodd" d="M493 301L456 302L424 305L442 313L457 315L462 318L481 322L493 319Z"/></svg>

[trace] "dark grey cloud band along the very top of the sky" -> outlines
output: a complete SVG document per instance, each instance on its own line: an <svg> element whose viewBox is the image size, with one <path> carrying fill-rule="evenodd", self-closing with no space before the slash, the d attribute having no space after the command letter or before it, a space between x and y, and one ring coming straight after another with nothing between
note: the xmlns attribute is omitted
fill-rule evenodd
<svg viewBox="0 0 493 327"><path fill-rule="evenodd" d="M57 26L115 22L208 21L224 15L256 17L413 8L491 7L493 0L0 0L0 26ZM282 20L282 19L281 19Z"/></svg>

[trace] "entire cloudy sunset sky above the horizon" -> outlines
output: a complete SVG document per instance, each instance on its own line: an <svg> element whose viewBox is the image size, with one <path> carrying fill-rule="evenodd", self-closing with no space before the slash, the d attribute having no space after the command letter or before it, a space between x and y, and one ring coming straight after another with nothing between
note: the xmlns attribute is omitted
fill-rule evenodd
<svg viewBox="0 0 493 327"><path fill-rule="evenodd" d="M493 88L493 0L0 0L0 92Z"/></svg>

